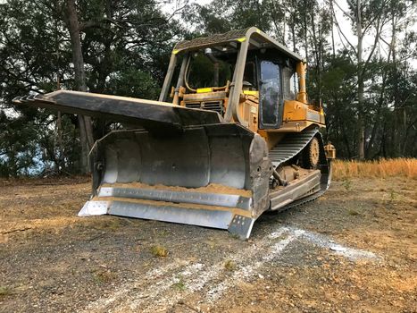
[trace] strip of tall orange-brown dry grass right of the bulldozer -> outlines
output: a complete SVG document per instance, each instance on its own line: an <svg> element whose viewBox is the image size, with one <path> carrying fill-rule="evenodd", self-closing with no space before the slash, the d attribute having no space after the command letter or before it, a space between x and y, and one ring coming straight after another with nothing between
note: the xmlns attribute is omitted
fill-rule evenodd
<svg viewBox="0 0 417 313"><path fill-rule="evenodd" d="M377 161L333 161L333 179L354 177L385 178L403 176L417 179L417 158L392 158Z"/></svg>

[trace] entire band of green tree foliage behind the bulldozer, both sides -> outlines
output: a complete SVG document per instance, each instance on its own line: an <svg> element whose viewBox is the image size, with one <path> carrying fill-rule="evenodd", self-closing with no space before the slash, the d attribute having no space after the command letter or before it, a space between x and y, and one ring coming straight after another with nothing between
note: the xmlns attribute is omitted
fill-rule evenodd
<svg viewBox="0 0 417 313"><path fill-rule="evenodd" d="M13 97L73 86L71 43L64 19L66 0L7 0L0 4L0 175L77 173L80 153L77 118L28 106ZM334 3L334 2L333 2ZM327 138L338 157L357 157L358 121L365 124L365 155L416 157L417 36L413 1L363 0L363 29L374 35L385 25L369 62L357 64L352 47L333 47L339 35L330 2L317 0L213 0L188 5L179 15L164 13L153 0L76 1L88 90L156 99L174 42L204 34L256 26L309 63L310 99L322 100ZM356 2L347 14L356 11ZM354 15L352 15L354 17ZM396 24L396 40L392 28ZM352 30L355 21L351 19ZM378 38L377 38L378 39ZM382 40L383 39L383 40ZM369 54L371 49L364 50ZM365 56L366 59L366 56ZM212 63L194 60L194 87L213 84ZM358 73L364 106L358 106ZM220 80L231 76L223 64ZM94 121L96 139L113 127Z"/></svg>

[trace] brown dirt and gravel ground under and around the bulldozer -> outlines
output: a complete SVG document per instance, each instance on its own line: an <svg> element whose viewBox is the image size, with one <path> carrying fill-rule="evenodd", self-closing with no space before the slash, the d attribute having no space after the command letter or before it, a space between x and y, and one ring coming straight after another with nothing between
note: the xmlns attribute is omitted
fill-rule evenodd
<svg viewBox="0 0 417 313"><path fill-rule="evenodd" d="M1 312L417 312L417 181L333 182L226 231L77 217L88 179L0 182Z"/></svg>

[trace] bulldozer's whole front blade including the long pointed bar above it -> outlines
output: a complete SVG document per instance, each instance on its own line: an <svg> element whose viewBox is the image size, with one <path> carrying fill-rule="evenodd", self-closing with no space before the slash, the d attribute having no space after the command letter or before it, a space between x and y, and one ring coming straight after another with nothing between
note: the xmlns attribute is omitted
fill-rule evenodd
<svg viewBox="0 0 417 313"><path fill-rule="evenodd" d="M110 214L228 229L248 238L270 206L266 142L214 111L55 91L14 103L137 125L90 151L93 196L79 216Z"/></svg>

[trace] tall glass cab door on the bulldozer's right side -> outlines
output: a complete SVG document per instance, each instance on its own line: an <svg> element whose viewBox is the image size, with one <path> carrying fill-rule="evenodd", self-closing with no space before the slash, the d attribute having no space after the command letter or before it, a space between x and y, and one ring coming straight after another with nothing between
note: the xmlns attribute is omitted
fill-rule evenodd
<svg viewBox="0 0 417 313"><path fill-rule="evenodd" d="M283 108L280 66L278 63L263 60L259 72L259 128L279 128Z"/></svg>

